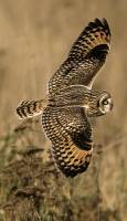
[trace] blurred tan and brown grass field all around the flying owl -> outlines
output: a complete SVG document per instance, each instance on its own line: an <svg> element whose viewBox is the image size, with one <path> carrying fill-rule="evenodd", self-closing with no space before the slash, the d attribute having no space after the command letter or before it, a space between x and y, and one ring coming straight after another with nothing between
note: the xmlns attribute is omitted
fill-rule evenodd
<svg viewBox="0 0 127 221"><path fill-rule="evenodd" d="M45 160L50 143L40 123L17 129L22 123L15 107L22 99L45 96L50 76L95 18L107 19L112 50L94 86L110 92L114 109L93 123L95 150L87 172L66 180ZM126 20L126 0L0 0L0 221L127 220ZM27 146L39 152L31 155ZM32 177L35 170L39 178ZM32 201L31 196L38 197Z"/></svg>

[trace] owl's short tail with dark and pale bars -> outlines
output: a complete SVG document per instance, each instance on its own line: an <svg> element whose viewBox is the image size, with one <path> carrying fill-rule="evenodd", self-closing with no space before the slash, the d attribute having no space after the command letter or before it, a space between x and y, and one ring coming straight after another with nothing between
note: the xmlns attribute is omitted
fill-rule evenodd
<svg viewBox="0 0 127 221"><path fill-rule="evenodd" d="M20 118L30 118L42 114L43 109L46 107L46 99L39 101L23 101L17 108L17 114Z"/></svg>

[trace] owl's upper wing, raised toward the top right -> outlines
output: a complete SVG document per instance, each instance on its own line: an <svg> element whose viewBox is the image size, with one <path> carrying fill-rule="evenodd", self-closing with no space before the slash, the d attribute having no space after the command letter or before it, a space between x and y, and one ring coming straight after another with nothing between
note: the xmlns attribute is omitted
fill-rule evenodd
<svg viewBox="0 0 127 221"><path fill-rule="evenodd" d="M66 61L49 82L49 93L61 87L82 84L92 87L93 80L106 60L110 48L110 31L105 19L95 19L73 44Z"/></svg>

